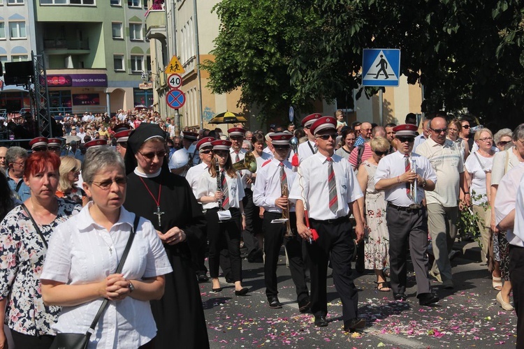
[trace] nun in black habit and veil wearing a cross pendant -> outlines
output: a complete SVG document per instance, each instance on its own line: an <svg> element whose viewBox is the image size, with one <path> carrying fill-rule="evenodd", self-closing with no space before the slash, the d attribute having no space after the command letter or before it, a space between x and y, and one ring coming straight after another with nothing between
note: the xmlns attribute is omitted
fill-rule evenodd
<svg viewBox="0 0 524 349"><path fill-rule="evenodd" d="M124 207L153 223L173 267L163 297L151 301L158 328L154 348L209 348L188 245L203 236L205 218L187 181L168 169L165 136L157 124L145 123L129 136Z"/></svg>

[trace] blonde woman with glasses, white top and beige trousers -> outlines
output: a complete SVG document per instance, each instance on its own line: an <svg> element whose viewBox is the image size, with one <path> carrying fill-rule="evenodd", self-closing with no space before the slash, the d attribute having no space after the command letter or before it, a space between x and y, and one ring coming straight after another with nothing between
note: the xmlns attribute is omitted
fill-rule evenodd
<svg viewBox="0 0 524 349"><path fill-rule="evenodd" d="M495 156L495 151L491 149L493 133L488 128L481 128L476 131L474 140L479 149L472 152L466 159L464 163L465 177L471 192L472 209L480 217L477 225L481 233L483 260L485 260L485 258L493 257L493 251L489 250L491 237L489 202L491 193L487 190L488 181L486 180L486 174L491 172L493 156ZM493 258L490 258L490 261L493 261Z"/></svg>

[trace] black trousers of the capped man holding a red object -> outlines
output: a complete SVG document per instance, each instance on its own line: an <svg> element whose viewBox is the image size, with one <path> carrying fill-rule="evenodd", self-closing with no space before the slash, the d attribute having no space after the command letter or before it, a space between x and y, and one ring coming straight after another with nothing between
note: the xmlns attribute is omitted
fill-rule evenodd
<svg viewBox="0 0 524 349"><path fill-rule="evenodd" d="M331 256L333 281L342 301L344 322L358 317L358 292L351 276L351 257L354 242L351 238L353 227L349 219L339 218L333 223L310 219L311 228L319 233L319 239L306 242L310 255L311 311L315 316L328 314L326 279L328 278L328 257Z"/></svg>

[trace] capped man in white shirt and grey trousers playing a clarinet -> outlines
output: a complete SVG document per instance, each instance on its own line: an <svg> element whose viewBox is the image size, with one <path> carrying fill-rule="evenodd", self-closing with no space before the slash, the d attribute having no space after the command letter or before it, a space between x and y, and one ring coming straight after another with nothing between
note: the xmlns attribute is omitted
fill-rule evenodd
<svg viewBox="0 0 524 349"><path fill-rule="evenodd" d="M394 130L398 151L382 158L374 175L375 188L385 192L388 202L386 223L389 230L391 289L395 300L407 299L406 254L409 244L416 276L417 298L419 304L427 306L438 302L439 297L432 295L430 290L426 253L428 222L421 202L425 191L435 189L437 175L427 158L412 153L416 125L399 125Z"/></svg>

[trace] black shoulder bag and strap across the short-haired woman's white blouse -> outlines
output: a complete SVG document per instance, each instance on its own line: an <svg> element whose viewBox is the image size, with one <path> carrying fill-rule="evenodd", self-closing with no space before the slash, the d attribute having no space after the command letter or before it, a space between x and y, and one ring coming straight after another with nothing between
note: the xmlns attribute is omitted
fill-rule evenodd
<svg viewBox="0 0 524 349"><path fill-rule="evenodd" d="M140 216L135 216L135 221L133 222L133 230L131 230L131 234L129 235L129 239L127 240L126 248L124 249L124 253L122 254L122 259L118 263L117 271L115 274L119 274L122 272L122 267L124 267L124 262L126 261L127 255L129 254L129 249L131 248L131 244L133 244L133 239L135 238L135 232L136 228L138 227L138 221L140 220ZM50 349L86 349L87 344L89 344L89 338L91 338L91 335L94 333L94 328L96 327L96 324L99 322L100 317L105 309L105 307L108 305L108 299L104 299L98 313L96 313L93 322L91 323L91 326L89 326L89 329L87 329L87 332L85 333L59 333L54 338L53 343L50 346Z"/></svg>

